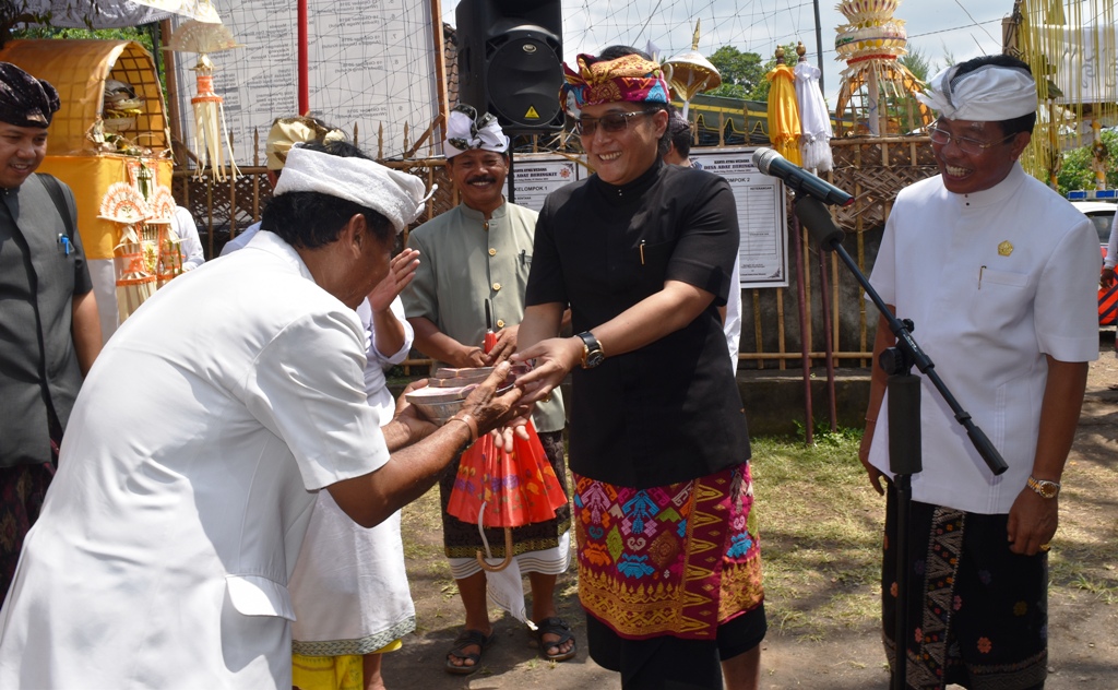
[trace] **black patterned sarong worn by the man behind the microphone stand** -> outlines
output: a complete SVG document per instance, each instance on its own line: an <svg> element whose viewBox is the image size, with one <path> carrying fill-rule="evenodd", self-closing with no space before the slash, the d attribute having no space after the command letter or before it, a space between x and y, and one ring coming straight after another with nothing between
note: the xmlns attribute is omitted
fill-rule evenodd
<svg viewBox="0 0 1118 690"><path fill-rule="evenodd" d="M889 493L882 566L885 655L896 668L897 501ZM912 688L1023 690L1048 675L1048 554L1010 551L1006 514L912 502L909 632Z"/></svg>

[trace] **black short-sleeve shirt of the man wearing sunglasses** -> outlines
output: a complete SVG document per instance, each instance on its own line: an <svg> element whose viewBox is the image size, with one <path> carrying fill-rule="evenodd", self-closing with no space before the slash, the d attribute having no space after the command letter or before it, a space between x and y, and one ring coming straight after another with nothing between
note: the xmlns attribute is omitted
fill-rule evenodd
<svg viewBox="0 0 1118 690"><path fill-rule="evenodd" d="M615 187L593 176L551 193L536 228L527 304L571 309L575 332L618 315L667 280L714 294L683 329L574 372L570 466L651 488L749 459L749 436L717 306L733 282L738 220L722 178L654 164Z"/></svg>

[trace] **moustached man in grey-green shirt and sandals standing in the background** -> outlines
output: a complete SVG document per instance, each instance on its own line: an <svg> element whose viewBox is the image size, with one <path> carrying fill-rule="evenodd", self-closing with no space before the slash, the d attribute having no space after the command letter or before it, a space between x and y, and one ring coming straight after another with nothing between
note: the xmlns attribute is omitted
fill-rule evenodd
<svg viewBox="0 0 1118 690"><path fill-rule="evenodd" d="M509 138L491 114L479 115L464 104L451 111L445 151L446 168L462 204L417 227L408 237L408 246L419 251L421 261L415 280L401 295L408 322L415 329L416 348L435 360L433 371L438 367L493 366L515 350L537 216L532 209L504 199ZM483 348L486 327L496 332L496 344L487 352ZM566 417L559 391L537 405L532 419L566 492ZM556 615L555 605L557 576L570 565L570 508L557 510L552 520L514 528L515 558L505 571L487 576L474 557L484 548L477 524L447 512L457 469L455 461L443 474L439 495L443 542L466 609L466 624L447 653L445 670L466 675L480 668L482 653L494 636L486 590L518 613L524 598L521 570L531 583L530 617L537 626L540 654L548 661L570 659L576 642L570 626ZM489 529L486 538L493 556L504 557L504 532ZM514 584L502 594L501 583Z"/></svg>

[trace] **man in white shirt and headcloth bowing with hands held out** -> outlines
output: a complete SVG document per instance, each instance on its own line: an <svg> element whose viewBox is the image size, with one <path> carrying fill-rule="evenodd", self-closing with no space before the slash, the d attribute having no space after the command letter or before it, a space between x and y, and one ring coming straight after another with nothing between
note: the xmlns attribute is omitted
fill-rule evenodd
<svg viewBox="0 0 1118 690"><path fill-rule="evenodd" d="M519 398L493 397L502 368L438 431L406 406L378 428L353 309L423 192L294 149L248 247L117 331L0 613L0 687L291 688L313 491L376 524Z"/></svg>

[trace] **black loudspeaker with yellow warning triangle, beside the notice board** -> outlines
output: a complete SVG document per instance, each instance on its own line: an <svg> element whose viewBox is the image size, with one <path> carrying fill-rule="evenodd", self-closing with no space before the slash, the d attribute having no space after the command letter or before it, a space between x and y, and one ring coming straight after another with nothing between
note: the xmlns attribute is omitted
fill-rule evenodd
<svg viewBox="0 0 1118 690"><path fill-rule="evenodd" d="M458 103L490 112L505 134L562 129L562 7L559 0L462 0Z"/></svg>

